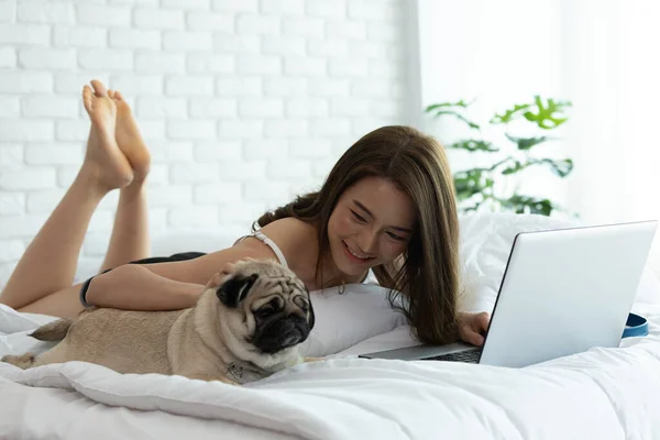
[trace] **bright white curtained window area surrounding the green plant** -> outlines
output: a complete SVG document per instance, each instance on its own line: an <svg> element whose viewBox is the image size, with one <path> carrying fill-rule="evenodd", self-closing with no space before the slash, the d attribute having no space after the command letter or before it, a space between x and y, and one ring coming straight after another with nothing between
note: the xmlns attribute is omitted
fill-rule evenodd
<svg viewBox="0 0 660 440"><path fill-rule="evenodd" d="M659 1L418 0L417 10L421 106L477 98L474 113L486 117L532 95L571 100L561 142L537 154L575 168L565 182L535 175L530 190L587 223L660 219Z"/></svg>

